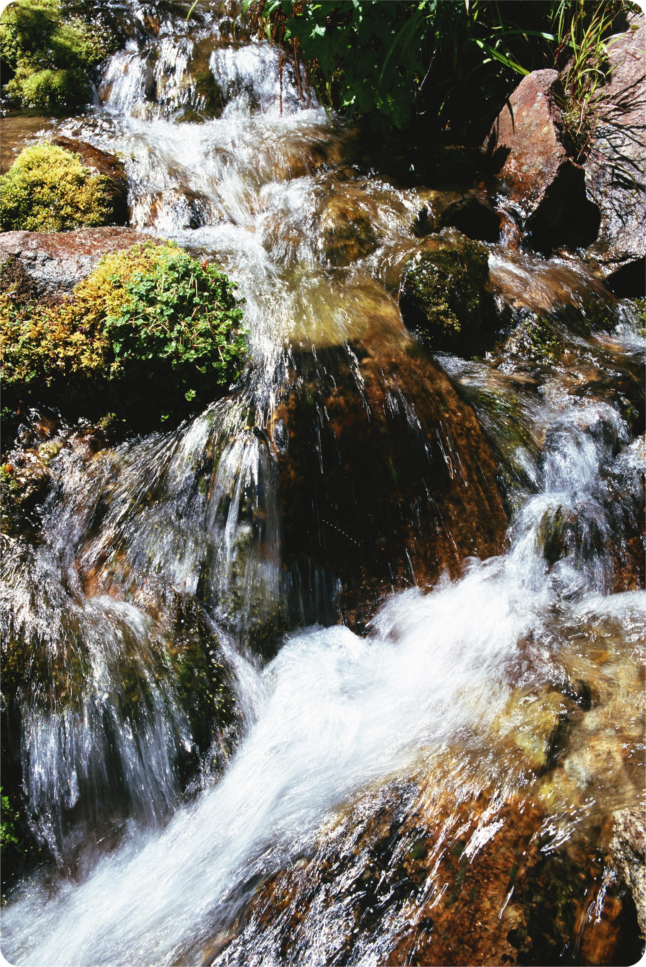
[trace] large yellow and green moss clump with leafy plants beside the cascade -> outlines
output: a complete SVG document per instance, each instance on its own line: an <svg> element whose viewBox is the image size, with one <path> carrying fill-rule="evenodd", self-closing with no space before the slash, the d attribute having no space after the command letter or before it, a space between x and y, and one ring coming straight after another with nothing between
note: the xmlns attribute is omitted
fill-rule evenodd
<svg viewBox="0 0 646 967"><path fill-rule="evenodd" d="M239 378L247 358L236 283L177 246L110 252L59 304L1 297L5 399L106 412L136 428L179 420Z"/></svg>

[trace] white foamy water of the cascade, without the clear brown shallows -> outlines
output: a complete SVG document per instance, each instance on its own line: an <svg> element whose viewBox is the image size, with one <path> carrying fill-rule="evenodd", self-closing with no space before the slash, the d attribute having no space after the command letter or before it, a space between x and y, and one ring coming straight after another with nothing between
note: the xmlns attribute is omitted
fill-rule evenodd
<svg viewBox="0 0 646 967"><path fill-rule="evenodd" d="M153 597L168 589L194 595L206 573L205 598L217 612L232 593L240 543L248 542L247 605L255 594L278 599L276 465L244 414L254 407L259 430L270 421L289 343L342 343L356 332L358 288L372 284L370 273L379 278L389 249L415 244L417 212L414 192L357 176L361 188L352 185L376 251L367 262L335 268L324 249L325 211L343 183L325 181L321 145L332 150L340 135L320 107L301 103L288 73L280 90L268 44L216 45L205 55L209 29L176 39L164 28L143 50L132 44L115 54L101 110L80 127L65 126L125 157L135 227L204 252L240 280L254 369L237 396L176 433L124 444L86 478L61 477L59 502L48 508L32 597L21 599L24 621L41 633L49 620L51 601L39 598L46 584L59 615L73 610L95 659L77 712L25 718L26 784L32 807L52 818L45 829L52 848L64 839L53 828L56 808L73 805L78 778L86 786L108 781L104 717L117 705L118 659L127 646L153 700L134 736L114 715L115 754L137 801L124 841L80 882L52 886L35 876L3 911L2 952L28 967L201 962L208 939L233 920L258 877L307 851L335 809L367 783L442 748L457 745L486 760L499 788L522 788L527 777L517 763L491 765L487 736L514 688L559 679L566 643L554 623L582 625L611 612L633 648L642 622L641 594L607 590L613 545L639 500L643 446L631 441L614 406L568 396L555 376L540 399L522 397L534 446L516 454L526 491L509 551L470 562L455 584L444 578L429 594L394 597L367 638L341 626L299 630L262 670L227 644L246 733L220 781L206 781L191 804L178 805L177 747L190 746L191 735L172 689L150 671L157 632L144 604L85 597L66 548L74 544L87 571L118 551ZM206 103L191 68L199 44L201 67L221 98L219 116L179 123L179 110ZM522 280L529 271L497 258L501 276ZM633 335L626 345L634 348ZM456 378L464 366L445 365ZM495 420L489 428L495 435ZM207 451L208 473L200 462ZM209 484L200 490L202 474ZM88 508L108 484L99 534L83 543ZM262 512L261 524L245 518L245 502ZM552 564L545 534L563 520L563 548ZM552 650L541 644L546 621L552 641L556 634ZM52 625L52 649L59 631ZM532 639L538 643L519 659L519 642Z"/></svg>

